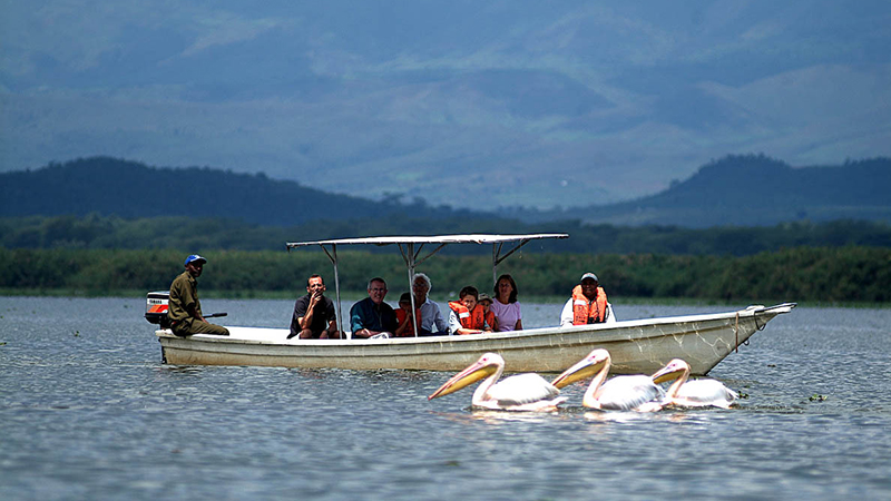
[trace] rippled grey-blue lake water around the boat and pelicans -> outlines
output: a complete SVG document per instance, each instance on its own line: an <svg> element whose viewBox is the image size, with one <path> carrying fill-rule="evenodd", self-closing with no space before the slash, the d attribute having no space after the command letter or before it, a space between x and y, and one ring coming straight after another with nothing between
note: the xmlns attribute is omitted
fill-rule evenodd
<svg viewBox="0 0 891 501"><path fill-rule="evenodd" d="M574 385L532 415L430 402L442 372L163 365L144 305L0 297L0 499L891 499L891 310L779 316L709 374L732 410L589 412ZM293 302L204 306L286 326Z"/></svg>

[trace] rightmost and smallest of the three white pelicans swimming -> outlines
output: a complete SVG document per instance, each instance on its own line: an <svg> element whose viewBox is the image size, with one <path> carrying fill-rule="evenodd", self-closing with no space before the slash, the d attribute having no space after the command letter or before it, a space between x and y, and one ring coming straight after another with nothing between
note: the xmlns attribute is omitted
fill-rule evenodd
<svg viewBox="0 0 891 501"><path fill-rule="evenodd" d="M730 409L736 400L736 392L724 386L719 381L687 381L687 377L689 377L689 364L681 358L675 358L653 374L653 382L658 384L675 380L665 392L665 404L682 407L706 407L713 405Z"/></svg>

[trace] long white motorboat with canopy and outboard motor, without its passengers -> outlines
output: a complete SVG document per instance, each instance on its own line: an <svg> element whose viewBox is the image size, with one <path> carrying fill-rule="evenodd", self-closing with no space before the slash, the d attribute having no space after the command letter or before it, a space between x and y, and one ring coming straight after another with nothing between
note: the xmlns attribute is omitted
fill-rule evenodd
<svg viewBox="0 0 891 501"><path fill-rule="evenodd" d="M287 248L319 245L325 250L334 265L337 325L343 325L340 315L339 245L398 245L411 283L414 266L448 244L492 244L495 279L498 264L526 243L566 237L566 234L369 237L288 243ZM506 243L516 245L502 255L502 245ZM425 245L437 247L419 259ZM165 294L149 293L147 312L163 310L159 305L165 302ZM227 327L228 336L195 334L178 337L167 328L159 328L155 334L160 341L164 362L175 365L459 371L482 353L496 352L508 361L512 372L561 372L591 350L601 347L609 351L613 357L610 372L616 374L653 373L673 358L683 358L689 363L692 374L704 375L752 334L763 330L768 321L789 313L793 307L794 303L784 303L716 314L461 336L417 337L415 334L415 337L381 340L287 340L288 328L237 326ZM146 317L149 318L148 313Z"/></svg>

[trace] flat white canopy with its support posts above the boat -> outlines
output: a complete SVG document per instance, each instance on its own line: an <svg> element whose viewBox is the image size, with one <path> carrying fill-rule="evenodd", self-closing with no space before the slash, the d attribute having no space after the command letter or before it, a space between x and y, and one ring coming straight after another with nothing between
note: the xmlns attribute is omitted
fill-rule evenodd
<svg viewBox="0 0 891 501"><path fill-rule="evenodd" d="M337 246L339 245L398 245L405 262L405 267L409 273L409 291L412 289L412 281L414 278L414 268L417 265L423 263L443 247L449 244L492 244L492 283L498 276L498 265L508 256L517 252L520 247L531 240L544 238L569 238L566 233L538 233L529 235L487 235L487 234L467 234L467 235L433 235L433 236L379 236L379 237L360 237L360 238L336 238L330 240L315 240L315 242L288 242L286 245L287 250L291 252L297 247L320 246L327 255L331 263L334 265L334 287L337 295L337 326L341 332L343 322L341 318L341 284L340 275L337 273ZM513 244L512 247L505 249L505 244ZM430 249L428 254L421 257L421 252L424 246L435 246ZM331 248L329 250L329 247ZM502 254L502 250L506 250ZM414 294L411 296L411 307L414 311ZM414 335L418 336L418 324L412 323L414 326Z"/></svg>

